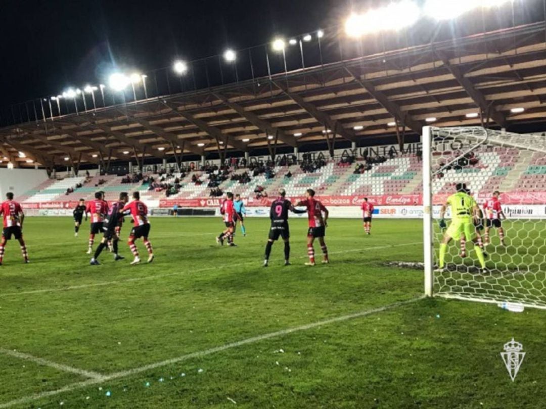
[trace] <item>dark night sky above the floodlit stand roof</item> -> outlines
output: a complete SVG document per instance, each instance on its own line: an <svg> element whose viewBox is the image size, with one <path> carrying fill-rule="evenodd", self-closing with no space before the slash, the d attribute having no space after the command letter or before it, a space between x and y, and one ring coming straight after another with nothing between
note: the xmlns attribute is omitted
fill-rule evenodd
<svg viewBox="0 0 546 409"><path fill-rule="evenodd" d="M339 24L365 0L3 0L0 106Z"/></svg>

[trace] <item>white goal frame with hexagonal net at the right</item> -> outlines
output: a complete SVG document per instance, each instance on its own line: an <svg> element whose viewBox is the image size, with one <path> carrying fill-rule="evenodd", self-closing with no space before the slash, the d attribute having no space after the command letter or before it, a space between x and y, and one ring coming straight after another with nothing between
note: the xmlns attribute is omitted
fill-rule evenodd
<svg viewBox="0 0 546 409"><path fill-rule="evenodd" d="M466 233L441 218L457 187L482 217ZM546 137L425 127L423 204L427 295L546 309Z"/></svg>

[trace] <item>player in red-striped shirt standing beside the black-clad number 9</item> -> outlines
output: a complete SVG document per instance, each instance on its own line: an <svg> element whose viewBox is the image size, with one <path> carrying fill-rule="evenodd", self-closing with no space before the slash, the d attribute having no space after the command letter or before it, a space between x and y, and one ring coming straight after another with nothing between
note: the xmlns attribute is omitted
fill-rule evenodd
<svg viewBox="0 0 546 409"><path fill-rule="evenodd" d="M322 253L324 258L323 264L330 262L328 258L328 247L324 242L324 236L326 235L326 227L328 226L328 209L324 205L314 198L314 190L307 189L307 199L301 200L296 206L305 206L307 208L307 215L309 219L309 230L307 232L307 254L309 256L309 262L305 265L314 265L314 248L313 242L315 238L318 238L321 244ZM324 217L322 214L324 213Z"/></svg>

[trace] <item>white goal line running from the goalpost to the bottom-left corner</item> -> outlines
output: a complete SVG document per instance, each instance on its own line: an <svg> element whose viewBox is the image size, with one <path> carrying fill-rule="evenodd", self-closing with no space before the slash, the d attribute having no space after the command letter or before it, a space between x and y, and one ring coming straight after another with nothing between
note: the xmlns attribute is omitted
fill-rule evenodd
<svg viewBox="0 0 546 409"><path fill-rule="evenodd" d="M374 313L394 309L394 308L402 306L402 305L412 304L412 303L415 303L416 301L421 300L421 299L423 299L423 297L412 298L412 299L407 300L407 301L399 301L398 303L385 305L385 306L374 308L374 309L371 309L371 310L364 310L364 311L355 312L355 313L352 313L352 314L342 315L342 316L339 316L339 317L327 318L327 319L323 319L322 321L317 321L317 322L313 322L313 323L310 323L310 324L300 325L299 327L287 328L287 329L283 329L283 330L280 330L280 331L275 331L275 332L268 333L268 334L258 335L258 336L254 336L254 337L247 338L245 340L241 340L241 341L237 341L237 342L226 343L224 345L221 345L221 346L218 346L218 347L215 347L215 348L205 349L204 351L199 351L199 352L192 352L192 353L189 353L189 354L186 354L186 355L181 355L180 357L171 358L171 359L167 359L167 360L164 360L164 361L159 361L159 362L156 362L156 363L153 363L153 364L136 367L136 368L129 369L129 370L126 370L126 371L114 372L113 374L105 375L104 377L102 377L100 379L91 379L91 380L87 380L87 381L83 381L83 382L71 383L71 384L68 384L67 386L64 386L64 387L60 388L60 389L49 390L48 392L41 392L41 393L37 393L37 394L34 394L34 395L25 396L23 398L15 399L15 400L12 400L12 401L9 401L9 402L5 402L4 404L0 404L0 409L5 409L5 408L8 408L8 407L11 407L11 406L14 406L14 405L28 404L29 402L32 402L34 400L48 398L49 396L58 395L58 394L64 393L64 392L71 392L72 390L75 390L75 389L80 389L80 388L85 388L85 387L88 387L88 386L93 386L93 385L96 385L96 384L99 384L99 383L102 383L102 382L114 381L114 380L124 378L124 377L127 377L127 376L141 374L142 372L146 372L146 371L149 371L149 370L152 370L152 369L157 369L158 367L176 364L176 363L179 363L181 361L185 361L185 360L192 359L192 358L205 357L206 355L211 355L211 354L214 354L216 352L223 352L223 351L225 351L227 349L240 347L242 345L248 345L248 344L251 344L251 343L254 343L254 342L259 342L259 341L275 338L275 337L278 337L278 336L288 335L288 334L296 333L296 332L299 332L299 331L306 331L308 329L322 327L323 325L333 324L333 323L337 323L337 322L343 322L343 321L347 321L349 319L365 317L365 316L368 316L368 315L371 315L371 314L374 314Z"/></svg>

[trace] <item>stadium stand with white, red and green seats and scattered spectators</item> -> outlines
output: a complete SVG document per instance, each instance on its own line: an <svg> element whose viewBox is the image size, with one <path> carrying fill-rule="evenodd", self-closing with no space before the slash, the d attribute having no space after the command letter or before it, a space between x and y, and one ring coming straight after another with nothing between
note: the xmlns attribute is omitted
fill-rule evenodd
<svg viewBox="0 0 546 409"><path fill-rule="evenodd" d="M546 189L546 158L540 153L505 147L482 147L472 157L461 159L459 156L461 152L454 151L442 159L442 171L433 183L435 194L452 191L453 185L460 180L465 180L473 193L480 194L490 194L495 190L543 192ZM225 172L223 181L218 179L221 171L216 170L214 173L210 169L140 175L138 181L136 176L69 177L41 183L26 192L20 201L41 203L76 201L80 198L89 200L99 190L105 192L107 200L116 199L121 191L138 190L143 200L149 201L210 198L225 192L240 194L242 197L257 197L258 191L260 195L271 195L281 187L289 197L301 196L307 188L313 188L319 195L333 196L422 193L422 162L416 154L407 153L380 158L377 163L371 162L376 161L358 158L349 164L330 160L314 171L304 171L299 164L278 165L269 169L269 175L274 175L272 177L266 173L254 175L248 168L232 168ZM218 186L209 186L211 180L218 181ZM79 183L82 186L78 188L76 186ZM67 194L68 188L74 191Z"/></svg>

